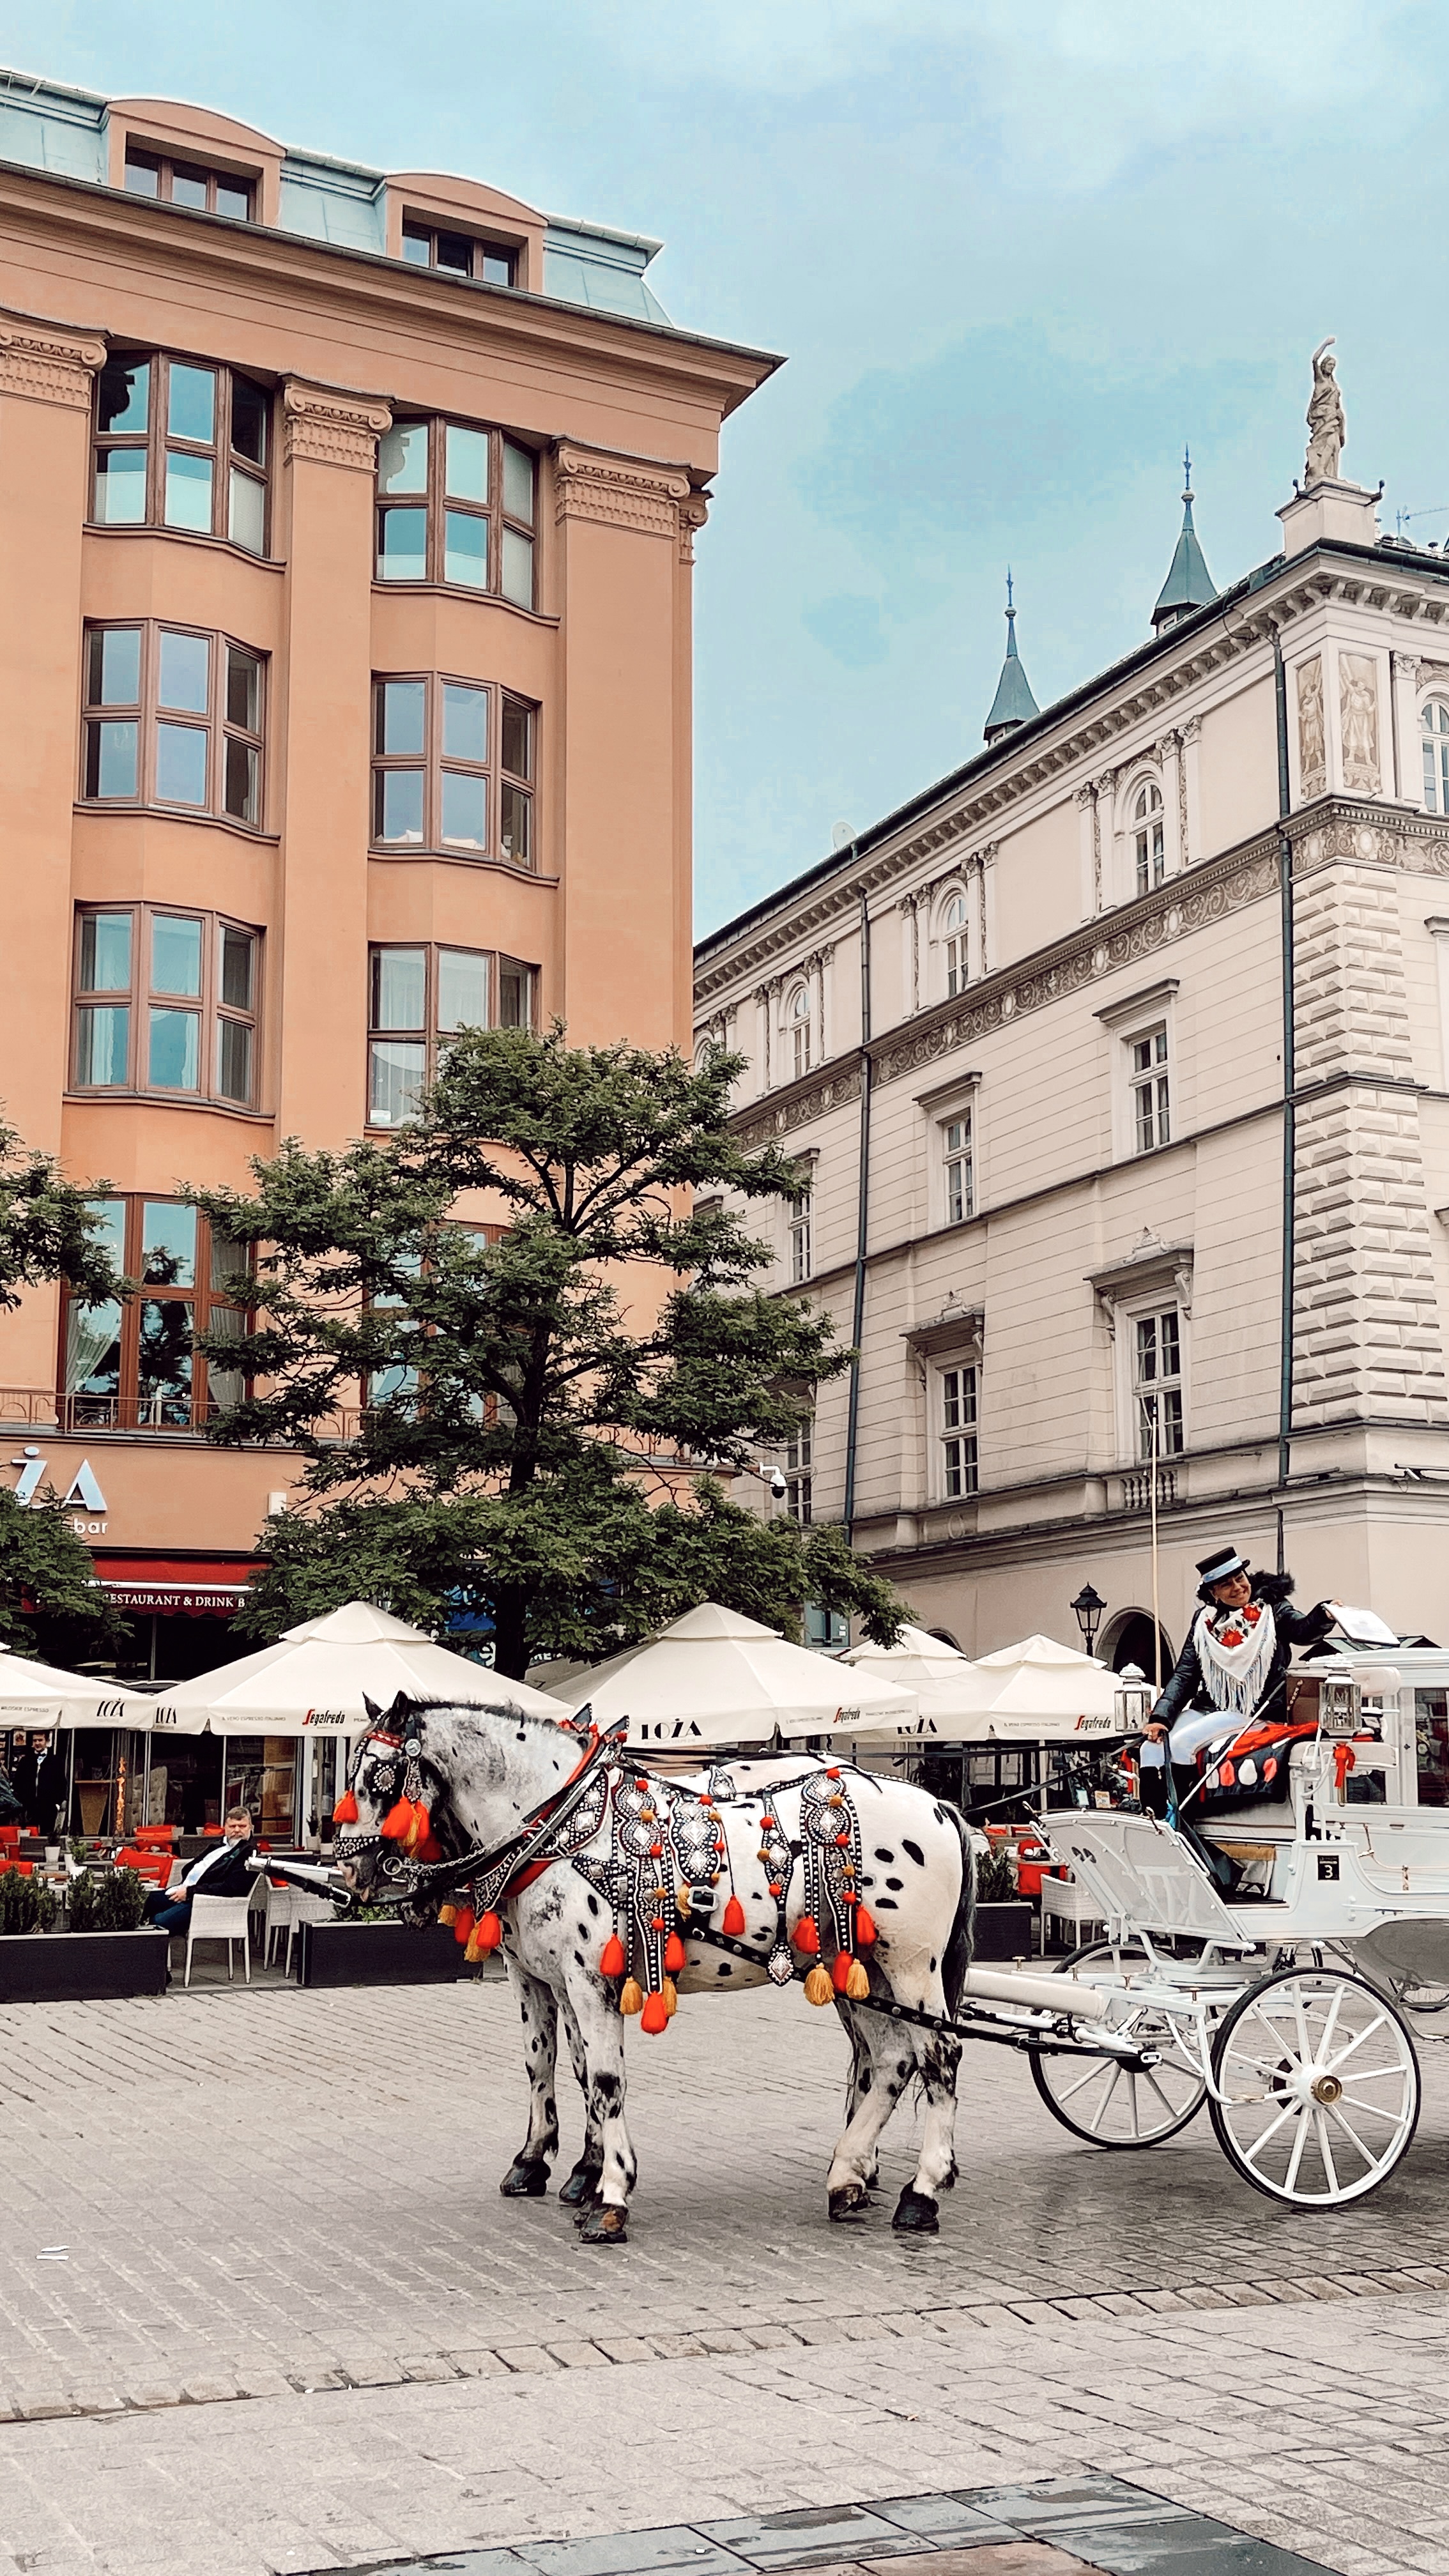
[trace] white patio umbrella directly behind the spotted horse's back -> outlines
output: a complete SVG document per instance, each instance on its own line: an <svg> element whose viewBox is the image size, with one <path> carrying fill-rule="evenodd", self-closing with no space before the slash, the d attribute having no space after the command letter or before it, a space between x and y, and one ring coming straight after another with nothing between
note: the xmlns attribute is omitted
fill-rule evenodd
<svg viewBox="0 0 1449 2576"><path fill-rule="evenodd" d="M915 1716L915 1692L835 1656L792 1646L773 1628L701 1602L642 1646L559 1682L554 1705L590 1708L596 1726L629 1718L629 1744L771 1744L822 1736L864 1718Z"/></svg>

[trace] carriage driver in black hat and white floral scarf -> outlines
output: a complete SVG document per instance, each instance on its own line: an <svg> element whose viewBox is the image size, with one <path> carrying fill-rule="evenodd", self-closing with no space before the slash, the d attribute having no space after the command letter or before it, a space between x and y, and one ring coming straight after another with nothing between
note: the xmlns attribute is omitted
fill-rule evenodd
<svg viewBox="0 0 1449 2576"><path fill-rule="evenodd" d="M1173 1765L1178 1808L1196 1788L1196 1752L1225 1726L1243 1731L1287 1721L1287 1669L1294 1646L1318 1646L1333 1628L1338 1602L1292 1610L1292 1574L1253 1574L1235 1546L1214 1548L1196 1566L1199 1602L1183 1651L1147 1718L1147 1744L1163 1744ZM1152 1798L1152 1757L1145 1744L1142 1803ZM1158 1765L1163 1754L1158 1754ZM1160 1780L1165 1806L1165 1777ZM1196 1803L1196 1801L1194 1801ZM1160 1811L1160 1808L1158 1808ZM1232 1862L1204 1844L1191 1814L1181 1832L1191 1834L1220 1886L1238 1873Z"/></svg>

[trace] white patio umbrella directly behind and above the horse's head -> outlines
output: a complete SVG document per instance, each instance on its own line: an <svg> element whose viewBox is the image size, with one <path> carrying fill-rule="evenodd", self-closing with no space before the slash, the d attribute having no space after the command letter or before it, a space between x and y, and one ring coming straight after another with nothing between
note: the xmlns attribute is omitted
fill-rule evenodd
<svg viewBox="0 0 1449 2576"><path fill-rule="evenodd" d="M400 1690L410 1700L467 1708L511 1700L534 1716L559 1713L557 1700L529 1682L469 1664L371 1602L345 1602L286 1628L276 1646L175 1682L150 1703L150 1723L157 1734L199 1734L211 1721L219 1736L358 1736L369 1726L366 1700L392 1708Z"/></svg>

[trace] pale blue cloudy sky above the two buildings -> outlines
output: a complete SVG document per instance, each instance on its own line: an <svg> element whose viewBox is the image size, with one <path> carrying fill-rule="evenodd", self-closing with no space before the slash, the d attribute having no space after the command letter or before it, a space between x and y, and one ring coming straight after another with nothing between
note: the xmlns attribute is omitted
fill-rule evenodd
<svg viewBox="0 0 1449 2576"><path fill-rule="evenodd" d="M0 0L0 59L663 234L789 358L699 544L701 930L980 747L1008 562L1042 703L1147 634L1183 440L1214 580L1274 554L1325 332L1449 538L1441 5Z"/></svg>

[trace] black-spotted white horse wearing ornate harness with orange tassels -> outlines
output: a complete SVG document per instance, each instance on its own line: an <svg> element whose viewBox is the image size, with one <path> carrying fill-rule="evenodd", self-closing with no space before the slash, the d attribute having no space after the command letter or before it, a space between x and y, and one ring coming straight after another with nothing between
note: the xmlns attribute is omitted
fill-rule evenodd
<svg viewBox="0 0 1449 2576"><path fill-rule="evenodd" d="M400 1695L356 1747L335 1808L338 1862L366 1901L400 1896L467 1955L500 1947L523 2022L529 2133L505 2197L541 2197L559 2148L562 2017L585 2102L583 2156L559 2200L585 2244L621 2244L637 2156L624 2117L624 2022L663 2032L678 1996L792 1984L835 2002L851 2040L846 2125L828 2215L864 2215L879 2138L913 2079L920 2154L892 2215L938 2233L957 2179L959 2038L892 2022L900 2004L949 2022L972 1958L975 1852L964 1816L928 1790L815 1754L663 1777L588 1723ZM472 1870L469 1870L472 1862ZM523 1865L526 1862L526 1865Z"/></svg>

